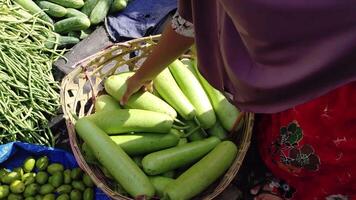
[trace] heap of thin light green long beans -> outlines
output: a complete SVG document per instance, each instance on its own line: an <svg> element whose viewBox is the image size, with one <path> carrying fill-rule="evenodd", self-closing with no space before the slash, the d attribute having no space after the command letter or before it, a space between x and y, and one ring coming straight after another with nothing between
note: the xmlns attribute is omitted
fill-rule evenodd
<svg viewBox="0 0 356 200"><path fill-rule="evenodd" d="M49 119L59 108L52 63L46 48L51 24L9 0L0 0L0 143L24 141L53 146Z"/></svg>

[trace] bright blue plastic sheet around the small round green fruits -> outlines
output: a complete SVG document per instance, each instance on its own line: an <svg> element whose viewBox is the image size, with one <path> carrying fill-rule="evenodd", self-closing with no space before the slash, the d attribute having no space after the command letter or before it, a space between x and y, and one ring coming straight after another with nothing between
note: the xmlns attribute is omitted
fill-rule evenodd
<svg viewBox="0 0 356 200"><path fill-rule="evenodd" d="M22 166L28 156L35 158L47 156L50 162L61 163L65 168L78 167L74 156L61 149L28 144L22 142L11 142L0 145L0 166L7 169ZM109 200L109 198L98 188L95 189L95 199Z"/></svg>

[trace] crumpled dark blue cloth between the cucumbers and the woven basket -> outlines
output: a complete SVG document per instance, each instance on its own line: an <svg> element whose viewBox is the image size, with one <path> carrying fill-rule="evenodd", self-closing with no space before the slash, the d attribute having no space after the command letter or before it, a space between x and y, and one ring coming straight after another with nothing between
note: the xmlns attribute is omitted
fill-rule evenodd
<svg viewBox="0 0 356 200"><path fill-rule="evenodd" d="M105 26L114 42L140 38L177 8L177 0L132 0L122 12L109 15Z"/></svg>

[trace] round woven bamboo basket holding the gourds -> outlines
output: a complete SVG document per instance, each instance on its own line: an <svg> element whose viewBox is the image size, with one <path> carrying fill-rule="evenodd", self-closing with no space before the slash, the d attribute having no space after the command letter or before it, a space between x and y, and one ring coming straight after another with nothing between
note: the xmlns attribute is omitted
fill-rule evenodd
<svg viewBox="0 0 356 200"><path fill-rule="evenodd" d="M64 77L61 84L61 105L73 154L79 166L89 174L96 186L112 199L132 200L116 192L115 184L103 175L100 168L85 161L79 148L82 140L75 133L74 116L83 117L92 113L95 98L103 93L105 78L112 74L138 69L159 37L159 35L145 37L109 46L77 63L75 69ZM250 145L254 115L244 113L241 121L243 124L239 132L231 134L230 138L238 145L238 155L234 163L224 176L195 199L214 199L236 176Z"/></svg>

